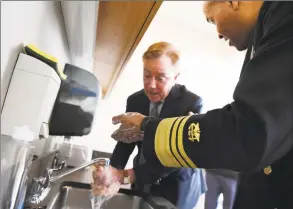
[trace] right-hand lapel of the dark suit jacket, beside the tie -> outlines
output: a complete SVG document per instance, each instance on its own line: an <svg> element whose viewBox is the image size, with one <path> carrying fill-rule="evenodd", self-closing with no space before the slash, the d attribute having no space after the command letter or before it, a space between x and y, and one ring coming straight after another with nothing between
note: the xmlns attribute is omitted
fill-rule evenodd
<svg viewBox="0 0 293 209"><path fill-rule="evenodd" d="M174 85L171 92L167 96L164 105L162 107L160 118L170 117L171 115L176 115L178 108L178 101L180 96L180 89L178 85Z"/></svg>

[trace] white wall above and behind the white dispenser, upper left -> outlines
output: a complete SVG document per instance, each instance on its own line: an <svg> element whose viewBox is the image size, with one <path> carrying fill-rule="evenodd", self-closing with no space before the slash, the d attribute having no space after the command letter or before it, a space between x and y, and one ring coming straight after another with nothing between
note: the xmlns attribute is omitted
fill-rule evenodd
<svg viewBox="0 0 293 209"><path fill-rule="evenodd" d="M1 2L1 109L22 43L70 60L60 2Z"/></svg>

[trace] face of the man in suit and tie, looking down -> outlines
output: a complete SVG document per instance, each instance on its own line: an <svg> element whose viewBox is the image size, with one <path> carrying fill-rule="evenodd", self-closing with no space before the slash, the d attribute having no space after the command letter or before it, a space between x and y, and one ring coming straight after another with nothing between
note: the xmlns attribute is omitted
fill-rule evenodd
<svg viewBox="0 0 293 209"><path fill-rule="evenodd" d="M143 67L143 85L147 97L151 102L164 100L178 77L171 59L166 56L145 59Z"/></svg>

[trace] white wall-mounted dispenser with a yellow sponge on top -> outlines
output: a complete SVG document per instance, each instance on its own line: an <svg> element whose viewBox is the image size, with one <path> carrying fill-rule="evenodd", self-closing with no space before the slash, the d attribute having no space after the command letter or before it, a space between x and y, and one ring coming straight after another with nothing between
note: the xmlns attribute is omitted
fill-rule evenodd
<svg viewBox="0 0 293 209"><path fill-rule="evenodd" d="M14 127L28 126L35 139L47 135L60 83L52 67L21 53L1 113L1 134L11 136Z"/></svg>

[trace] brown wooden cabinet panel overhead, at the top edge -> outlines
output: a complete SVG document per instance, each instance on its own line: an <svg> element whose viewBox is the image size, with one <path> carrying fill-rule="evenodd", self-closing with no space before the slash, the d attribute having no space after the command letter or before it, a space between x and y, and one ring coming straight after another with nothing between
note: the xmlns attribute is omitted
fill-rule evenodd
<svg viewBox="0 0 293 209"><path fill-rule="evenodd" d="M100 1L94 73L107 96L161 1Z"/></svg>

